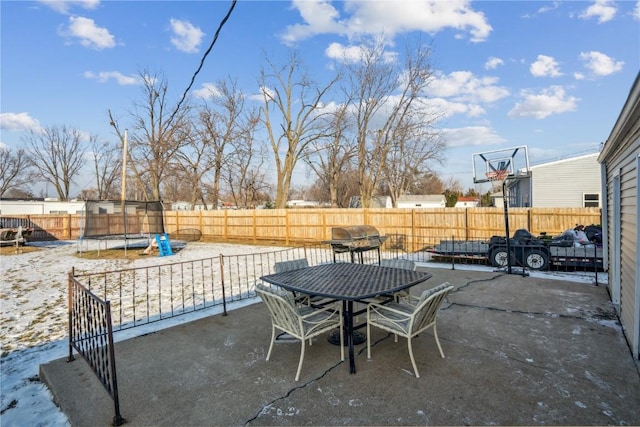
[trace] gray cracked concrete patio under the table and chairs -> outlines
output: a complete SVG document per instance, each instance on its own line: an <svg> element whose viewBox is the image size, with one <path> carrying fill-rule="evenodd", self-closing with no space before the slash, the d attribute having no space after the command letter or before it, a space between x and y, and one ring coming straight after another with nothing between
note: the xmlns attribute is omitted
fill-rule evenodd
<svg viewBox="0 0 640 427"><path fill-rule="evenodd" d="M431 333L374 330L356 374L324 338L275 345L258 303L118 342L127 425L640 425L640 373L605 286L493 271L429 269L455 286ZM413 289L418 293L422 288ZM113 401L81 358L40 376L74 426L107 426Z"/></svg>

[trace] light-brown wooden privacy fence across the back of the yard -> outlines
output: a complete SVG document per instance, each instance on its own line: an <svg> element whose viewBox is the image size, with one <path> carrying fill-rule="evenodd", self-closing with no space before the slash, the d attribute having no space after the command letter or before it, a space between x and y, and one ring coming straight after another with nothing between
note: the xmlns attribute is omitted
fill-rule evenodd
<svg viewBox="0 0 640 427"><path fill-rule="evenodd" d="M31 240L80 237L80 214L2 216L5 227L34 228ZM130 221L128 218L127 221ZM144 221L140 218L140 221ZM120 214L104 214L104 223L120 229ZM198 230L203 240L298 244L331 239L333 227L371 225L380 234L419 238L477 240L505 234L502 208L421 209L258 209L166 211L165 231ZM600 208L509 208L509 230L558 235L576 224L601 224ZM113 234L120 234L114 232Z"/></svg>

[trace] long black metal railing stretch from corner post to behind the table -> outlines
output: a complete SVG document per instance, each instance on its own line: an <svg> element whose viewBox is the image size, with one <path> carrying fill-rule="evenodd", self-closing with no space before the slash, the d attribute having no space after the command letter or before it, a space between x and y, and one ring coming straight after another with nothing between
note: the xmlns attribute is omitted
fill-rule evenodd
<svg viewBox="0 0 640 427"><path fill-rule="evenodd" d="M332 262L328 245L304 246L99 273L73 273L93 294L111 303L115 331L222 306L255 296L260 276L276 262L306 258L311 265Z"/></svg>

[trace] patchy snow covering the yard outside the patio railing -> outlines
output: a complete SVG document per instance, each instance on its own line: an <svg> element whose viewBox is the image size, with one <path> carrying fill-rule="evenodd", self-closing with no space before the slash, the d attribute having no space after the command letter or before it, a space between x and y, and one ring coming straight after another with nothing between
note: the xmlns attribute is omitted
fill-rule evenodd
<svg viewBox="0 0 640 427"><path fill-rule="evenodd" d="M67 340L67 276L72 268L77 272L107 271L130 267L146 267L168 262L206 259L219 254L238 255L266 252L281 248L221 244L189 243L168 261L166 257L150 256L136 259L83 259L79 251L103 248L104 242L56 241L33 242L42 250L3 256L0 260L0 424L3 427L69 425L53 396L40 381L41 364L68 355ZM100 246L98 246L100 245ZM428 263L429 267L451 268L447 263ZM457 269L490 270L479 265L456 265ZM593 283L593 273L585 275L531 272L531 276ZM600 283L607 276L600 273ZM251 304L245 300L236 306ZM116 341L122 341L154 330L168 328L219 312L212 307L177 318L118 331Z"/></svg>

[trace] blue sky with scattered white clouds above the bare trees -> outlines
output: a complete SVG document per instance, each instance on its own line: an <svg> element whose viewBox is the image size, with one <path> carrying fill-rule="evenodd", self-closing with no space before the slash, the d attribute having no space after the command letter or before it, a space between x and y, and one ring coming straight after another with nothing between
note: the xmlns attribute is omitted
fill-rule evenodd
<svg viewBox="0 0 640 427"><path fill-rule="evenodd" d="M177 102L231 6L3 0L0 145L15 150L30 129L61 125L117 141L107 111L127 127L143 71L163 74ZM535 165L598 152L640 70L637 0L240 0L189 96L228 77L258 95L265 54L279 60L290 49L326 81L345 53L380 34L398 61L407 42L431 46L425 96L447 144L432 169L463 189L487 189L474 185L474 153L525 146ZM300 165L293 185L307 184ZM79 179L73 190L91 186Z"/></svg>

